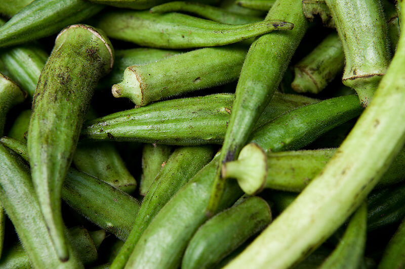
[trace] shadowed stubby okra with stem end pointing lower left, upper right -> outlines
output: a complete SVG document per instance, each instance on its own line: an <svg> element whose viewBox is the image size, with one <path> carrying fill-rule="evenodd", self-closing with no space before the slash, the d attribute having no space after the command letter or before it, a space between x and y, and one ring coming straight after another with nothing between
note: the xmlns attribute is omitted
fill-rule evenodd
<svg viewBox="0 0 405 269"><path fill-rule="evenodd" d="M291 87L296 92L319 93L338 75L344 63L342 43L332 33L294 67Z"/></svg>

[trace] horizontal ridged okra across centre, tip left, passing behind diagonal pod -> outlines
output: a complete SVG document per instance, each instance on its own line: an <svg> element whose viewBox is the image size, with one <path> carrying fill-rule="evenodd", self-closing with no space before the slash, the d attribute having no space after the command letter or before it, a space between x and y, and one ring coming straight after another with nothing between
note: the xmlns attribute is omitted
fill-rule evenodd
<svg viewBox="0 0 405 269"><path fill-rule="evenodd" d="M156 102L90 121L82 130L82 138L171 145L220 144L225 136L233 100L233 94L213 94ZM277 93L256 127L313 101Z"/></svg>

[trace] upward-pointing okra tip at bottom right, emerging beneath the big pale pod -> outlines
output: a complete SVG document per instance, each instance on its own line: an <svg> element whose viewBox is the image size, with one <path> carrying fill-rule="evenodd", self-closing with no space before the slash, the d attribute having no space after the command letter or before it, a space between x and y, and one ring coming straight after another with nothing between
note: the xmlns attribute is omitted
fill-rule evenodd
<svg viewBox="0 0 405 269"><path fill-rule="evenodd" d="M335 250L318 268L358 268L365 252L366 237L367 203L363 202L350 218L346 231Z"/></svg>

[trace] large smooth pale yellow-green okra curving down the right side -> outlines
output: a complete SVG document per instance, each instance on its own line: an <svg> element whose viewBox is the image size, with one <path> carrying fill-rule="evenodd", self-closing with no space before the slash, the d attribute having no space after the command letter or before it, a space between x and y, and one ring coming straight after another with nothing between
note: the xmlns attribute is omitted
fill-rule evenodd
<svg viewBox="0 0 405 269"><path fill-rule="evenodd" d="M327 167L225 268L288 268L325 241L366 198L405 141L404 65L402 36L372 102Z"/></svg>

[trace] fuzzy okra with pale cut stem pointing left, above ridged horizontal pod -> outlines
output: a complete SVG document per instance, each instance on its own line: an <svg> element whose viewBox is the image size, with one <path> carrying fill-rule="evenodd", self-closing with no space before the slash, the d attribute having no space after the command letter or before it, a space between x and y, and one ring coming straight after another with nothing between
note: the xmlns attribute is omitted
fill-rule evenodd
<svg viewBox="0 0 405 269"><path fill-rule="evenodd" d="M137 106L235 81L246 48L206 47L146 65L130 66L124 80L112 86L114 97L127 97Z"/></svg>

